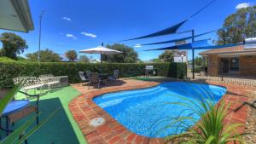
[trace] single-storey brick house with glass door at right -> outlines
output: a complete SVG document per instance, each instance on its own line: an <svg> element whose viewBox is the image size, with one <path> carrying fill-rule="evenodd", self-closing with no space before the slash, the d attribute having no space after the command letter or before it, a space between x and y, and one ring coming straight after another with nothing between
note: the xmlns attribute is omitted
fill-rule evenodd
<svg viewBox="0 0 256 144"><path fill-rule="evenodd" d="M209 76L236 75L256 77L256 45L238 45L200 53L207 59Z"/></svg>

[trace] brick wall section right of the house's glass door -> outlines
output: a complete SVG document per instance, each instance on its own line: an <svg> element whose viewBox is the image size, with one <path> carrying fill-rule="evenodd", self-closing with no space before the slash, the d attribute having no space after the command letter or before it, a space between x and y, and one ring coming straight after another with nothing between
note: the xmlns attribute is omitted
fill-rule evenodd
<svg viewBox="0 0 256 144"><path fill-rule="evenodd" d="M256 76L256 55L240 56L239 70L241 76Z"/></svg>

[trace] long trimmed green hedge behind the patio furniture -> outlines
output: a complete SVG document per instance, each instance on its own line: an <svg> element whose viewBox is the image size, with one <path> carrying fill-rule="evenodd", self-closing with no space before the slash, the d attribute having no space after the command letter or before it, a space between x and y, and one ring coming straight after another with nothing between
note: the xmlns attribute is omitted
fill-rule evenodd
<svg viewBox="0 0 256 144"><path fill-rule="evenodd" d="M184 78L186 75L185 63L102 63L102 72L112 73L119 69L120 77L133 77L144 74L144 67L153 65L159 76ZM12 78L20 76L36 76L53 74L68 76L69 83L79 82L79 71L99 72L100 64L81 62L0 62L0 89L14 86Z"/></svg>

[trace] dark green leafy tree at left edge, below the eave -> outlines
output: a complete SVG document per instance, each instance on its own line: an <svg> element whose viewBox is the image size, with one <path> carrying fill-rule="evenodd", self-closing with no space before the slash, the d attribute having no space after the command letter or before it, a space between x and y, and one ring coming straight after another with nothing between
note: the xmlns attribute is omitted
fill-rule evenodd
<svg viewBox="0 0 256 144"><path fill-rule="evenodd" d="M1 55L11 59L16 60L17 55L20 55L28 48L26 40L12 32L2 33L0 41L3 43L3 49L0 50Z"/></svg>

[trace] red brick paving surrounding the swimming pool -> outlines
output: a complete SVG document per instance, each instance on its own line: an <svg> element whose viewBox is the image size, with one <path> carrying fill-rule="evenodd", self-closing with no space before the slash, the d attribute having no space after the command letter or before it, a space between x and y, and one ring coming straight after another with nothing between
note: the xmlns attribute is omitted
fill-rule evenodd
<svg viewBox="0 0 256 144"><path fill-rule="evenodd" d="M69 103L69 109L73 113L73 118L79 124L84 138L88 143L110 143L110 144L125 144L125 143L163 143L164 139L148 138L142 135L137 135L127 130L122 124L119 124L112 118L108 112L105 112L101 107L98 107L92 98L97 95L102 95L109 92L115 92L127 89L142 89L155 86L157 82L138 81L133 79L123 79L123 83L116 85L108 85L102 89L87 89L87 86L79 86L72 84L73 88L78 89L82 95L76 97ZM217 83L210 83L217 84ZM241 87L235 84L218 84L225 86L228 89L222 100L230 103L230 112L225 119L225 123L241 123L246 124L247 106L241 107L237 112L234 110L240 107L244 101L247 101L247 94L253 90L253 87ZM255 90L255 89L254 89ZM90 120L93 118L105 118L106 123L99 127L90 126ZM244 131L245 126L239 128L239 132Z"/></svg>

